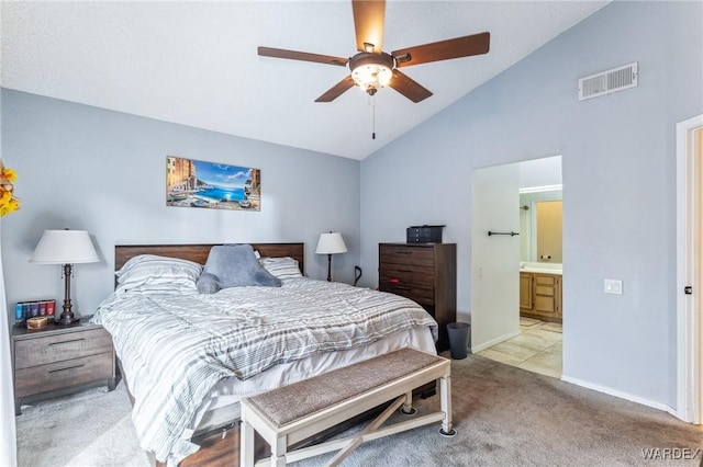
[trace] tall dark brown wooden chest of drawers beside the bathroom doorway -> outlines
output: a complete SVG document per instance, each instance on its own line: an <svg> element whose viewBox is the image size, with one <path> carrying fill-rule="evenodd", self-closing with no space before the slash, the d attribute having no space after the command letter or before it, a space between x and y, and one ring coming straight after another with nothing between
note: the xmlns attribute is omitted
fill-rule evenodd
<svg viewBox="0 0 703 467"><path fill-rule="evenodd" d="M379 243L379 291L417 301L439 324L437 350L449 349L457 318L456 243Z"/></svg>

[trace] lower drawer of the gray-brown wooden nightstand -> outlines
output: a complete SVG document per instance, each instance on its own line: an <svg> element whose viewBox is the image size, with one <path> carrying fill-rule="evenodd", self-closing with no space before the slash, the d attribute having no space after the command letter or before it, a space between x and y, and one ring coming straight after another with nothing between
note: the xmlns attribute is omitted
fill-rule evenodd
<svg viewBox="0 0 703 467"><path fill-rule="evenodd" d="M72 387L112 376L112 352L18 369L14 397Z"/></svg>

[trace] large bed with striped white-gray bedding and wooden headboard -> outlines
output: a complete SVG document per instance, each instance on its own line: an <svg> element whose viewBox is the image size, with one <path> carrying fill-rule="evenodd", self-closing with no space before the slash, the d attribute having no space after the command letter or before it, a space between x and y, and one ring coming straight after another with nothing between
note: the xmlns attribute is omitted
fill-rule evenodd
<svg viewBox="0 0 703 467"><path fill-rule="evenodd" d="M133 399L132 420L142 447L157 462L177 465L198 451L193 435L232 425L244 397L402 346L435 352L437 326L422 307L392 294L304 277L303 243L252 244L261 257L256 264L278 287L191 293L192 276L201 274L199 286L205 278L213 247L116 246L115 292L92 318L113 338ZM165 261L169 274L171 263L185 264L190 277L161 277L149 265L152 276L132 274L147 287L126 289L124 271L147 258L175 259ZM205 270L190 271L189 262Z"/></svg>

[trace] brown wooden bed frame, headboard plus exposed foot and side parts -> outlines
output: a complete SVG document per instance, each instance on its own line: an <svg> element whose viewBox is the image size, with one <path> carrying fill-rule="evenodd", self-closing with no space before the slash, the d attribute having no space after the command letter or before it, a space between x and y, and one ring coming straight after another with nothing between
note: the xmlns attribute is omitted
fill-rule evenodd
<svg viewBox="0 0 703 467"><path fill-rule="evenodd" d="M159 257L179 258L182 260L194 261L205 264L210 249L216 244L223 243L189 243L189 244L118 244L114 247L114 270L120 270L124 263L131 258L138 254L157 254ZM305 274L305 244L304 243L249 243L261 257L291 257L295 259L300 265L300 271ZM120 362L118 362L120 363ZM120 365L120 373L124 378ZM130 394L130 385L124 379L130 395L130 400L134 405L132 395ZM238 421L211 431L193 438L199 444L200 451L187 457L180 463L181 467L202 466L237 466L239 464L239 424ZM266 454L267 446L261 442L257 443L257 448L261 454ZM149 455L152 460L154 457ZM166 463L156 462L157 466L166 466Z"/></svg>

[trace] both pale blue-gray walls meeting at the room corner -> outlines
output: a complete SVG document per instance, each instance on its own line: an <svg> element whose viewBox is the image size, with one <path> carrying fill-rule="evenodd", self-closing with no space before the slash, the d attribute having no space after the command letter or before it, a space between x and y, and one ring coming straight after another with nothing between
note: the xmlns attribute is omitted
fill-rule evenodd
<svg viewBox="0 0 703 467"><path fill-rule="evenodd" d="M58 267L27 263L45 228L92 234L104 261L77 266L74 293L90 312L115 243L304 241L324 278L313 251L334 229L350 249L335 277L350 282L360 258L375 286L379 241L446 224L468 314L473 169L562 155L565 376L673 406L674 135L703 113L701 18L701 2L614 2L360 164L3 90L1 153L22 198L2 220L8 301L63 296ZM638 88L577 101L578 78L632 61ZM261 169L263 210L166 207L168 155ZM606 277L624 295L603 295Z"/></svg>

